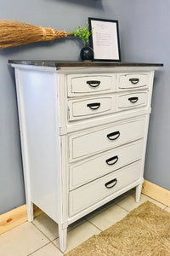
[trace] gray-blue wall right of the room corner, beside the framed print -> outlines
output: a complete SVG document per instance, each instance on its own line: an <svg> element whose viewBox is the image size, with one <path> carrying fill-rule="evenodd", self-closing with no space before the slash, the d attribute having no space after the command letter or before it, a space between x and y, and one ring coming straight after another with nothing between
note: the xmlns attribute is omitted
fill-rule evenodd
<svg viewBox="0 0 170 256"><path fill-rule="evenodd" d="M164 64L156 71L144 177L170 189L170 1L124 2L124 61Z"/></svg>

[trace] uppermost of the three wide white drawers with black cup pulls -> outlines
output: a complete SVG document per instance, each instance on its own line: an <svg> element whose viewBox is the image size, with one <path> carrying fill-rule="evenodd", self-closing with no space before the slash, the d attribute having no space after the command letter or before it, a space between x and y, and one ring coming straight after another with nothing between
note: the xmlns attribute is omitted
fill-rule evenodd
<svg viewBox="0 0 170 256"><path fill-rule="evenodd" d="M69 137L70 162L144 137L145 119L77 132Z"/></svg>

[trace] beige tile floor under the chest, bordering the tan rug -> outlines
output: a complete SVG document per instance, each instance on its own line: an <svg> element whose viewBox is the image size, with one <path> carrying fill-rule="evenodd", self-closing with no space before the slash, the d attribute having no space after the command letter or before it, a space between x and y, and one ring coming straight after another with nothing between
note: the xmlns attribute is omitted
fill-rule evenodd
<svg viewBox="0 0 170 256"><path fill-rule="evenodd" d="M77 247L90 236L99 234L101 230L124 218L128 212L144 201L152 201L157 206L170 212L170 208L141 195L139 203L135 202L135 192L130 190L109 202L104 207L89 213L68 228L67 250ZM0 256L62 256L59 250L59 234L57 224L42 213L33 223L24 223L0 236Z"/></svg>

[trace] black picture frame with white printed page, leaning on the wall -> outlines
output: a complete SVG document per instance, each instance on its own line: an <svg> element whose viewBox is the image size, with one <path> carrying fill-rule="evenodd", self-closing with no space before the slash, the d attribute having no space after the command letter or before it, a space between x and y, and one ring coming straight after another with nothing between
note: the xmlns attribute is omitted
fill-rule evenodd
<svg viewBox="0 0 170 256"><path fill-rule="evenodd" d="M94 49L94 61L121 61L118 20L88 18L90 47ZM108 29L111 31L108 32Z"/></svg>

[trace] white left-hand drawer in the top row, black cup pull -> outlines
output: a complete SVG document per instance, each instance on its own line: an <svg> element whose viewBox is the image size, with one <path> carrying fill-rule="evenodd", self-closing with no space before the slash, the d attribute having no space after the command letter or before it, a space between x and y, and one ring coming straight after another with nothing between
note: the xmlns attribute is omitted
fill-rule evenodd
<svg viewBox="0 0 170 256"><path fill-rule="evenodd" d="M68 75L68 96L84 96L115 91L115 74Z"/></svg>

